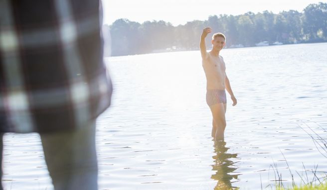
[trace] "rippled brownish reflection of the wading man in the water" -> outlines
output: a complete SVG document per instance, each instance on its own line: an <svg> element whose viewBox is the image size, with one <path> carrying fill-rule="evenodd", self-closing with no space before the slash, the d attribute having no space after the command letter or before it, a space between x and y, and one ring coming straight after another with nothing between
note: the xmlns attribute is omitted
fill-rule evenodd
<svg viewBox="0 0 327 190"><path fill-rule="evenodd" d="M232 187L231 180L237 180L238 175L230 175L230 173L237 169L234 167L234 162L230 158L236 158L237 154L226 153L229 148L225 147L225 145L226 142L224 141L214 142L214 153L216 154L212 157L214 159L212 170L217 171L216 174L211 176L211 179L217 181L214 190L237 189L236 187Z"/></svg>

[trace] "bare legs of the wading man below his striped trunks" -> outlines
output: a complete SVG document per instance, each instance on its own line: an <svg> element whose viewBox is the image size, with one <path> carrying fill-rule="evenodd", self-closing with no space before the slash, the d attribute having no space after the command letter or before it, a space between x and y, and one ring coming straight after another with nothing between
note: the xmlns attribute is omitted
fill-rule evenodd
<svg viewBox="0 0 327 190"><path fill-rule="evenodd" d="M210 110L213 117L213 124L216 126L215 138L216 140L224 139L224 131L226 127L225 120L225 107L223 103L217 103L210 106ZM212 126L212 133L214 132L214 125Z"/></svg>

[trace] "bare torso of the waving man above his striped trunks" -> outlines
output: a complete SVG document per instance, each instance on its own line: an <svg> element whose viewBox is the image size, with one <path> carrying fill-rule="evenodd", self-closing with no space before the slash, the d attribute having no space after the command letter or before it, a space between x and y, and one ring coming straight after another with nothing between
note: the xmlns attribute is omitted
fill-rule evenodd
<svg viewBox="0 0 327 190"><path fill-rule="evenodd" d="M206 59L202 59L202 67L207 79L207 89L224 90L226 67L223 58L207 53Z"/></svg>

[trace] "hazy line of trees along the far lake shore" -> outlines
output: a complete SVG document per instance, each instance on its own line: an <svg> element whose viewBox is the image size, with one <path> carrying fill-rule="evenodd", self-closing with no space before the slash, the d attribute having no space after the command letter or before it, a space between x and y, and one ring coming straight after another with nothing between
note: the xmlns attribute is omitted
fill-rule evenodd
<svg viewBox="0 0 327 190"><path fill-rule="evenodd" d="M296 10L274 14L212 15L207 20L193 20L173 26L169 22L145 21L142 24L118 19L104 25L103 35L111 35L112 56L152 53L160 50L196 50L202 29L210 26L213 32L226 35L226 47L242 44L255 46L267 41L283 44L327 41L327 3L309 4L302 12ZM206 39L210 45L210 38Z"/></svg>

